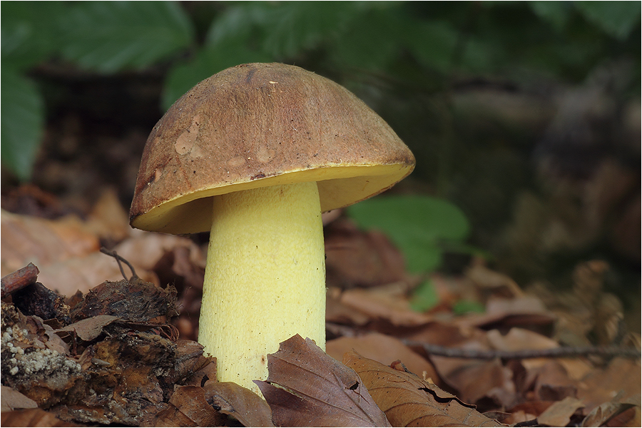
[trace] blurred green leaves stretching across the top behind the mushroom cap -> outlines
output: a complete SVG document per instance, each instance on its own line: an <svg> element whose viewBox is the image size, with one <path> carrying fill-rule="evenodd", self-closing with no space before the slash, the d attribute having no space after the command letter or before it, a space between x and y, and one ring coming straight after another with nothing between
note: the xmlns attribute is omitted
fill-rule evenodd
<svg viewBox="0 0 642 428"><path fill-rule="evenodd" d="M378 73L439 90L452 73L531 68L583 78L626 41L639 51L633 1L199 3L2 2L2 163L31 177L46 114L31 71L47 61L102 74L159 67L167 108L203 78L250 61L307 63L341 83Z"/></svg>

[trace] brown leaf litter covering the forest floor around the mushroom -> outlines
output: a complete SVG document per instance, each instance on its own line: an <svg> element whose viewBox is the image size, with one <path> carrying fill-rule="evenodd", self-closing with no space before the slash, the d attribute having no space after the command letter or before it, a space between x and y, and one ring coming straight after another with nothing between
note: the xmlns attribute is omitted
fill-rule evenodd
<svg viewBox="0 0 642 428"><path fill-rule="evenodd" d="M2 213L2 275L31 261L40 270L19 291L5 295L3 283L4 426L640 424L639 358L537 355L593 338L639 350L638 335L618 335L621 304L601 291L599 260L579 265L562 296L521 290L473 260L464 275L433 275L442 302L414 312L422 278L399 270L384 236L334 213L327 354L302 337L283 342L258 382L264 400L217 382L215 358L195 342L203 245L131 230L112 196L88 220ZM106 242L140 278L123 280L98 252ZM372 275L375 265L388 276ZM486 311L456 315L462 298ZM535 354L501 357L520 350Z"/></svg>

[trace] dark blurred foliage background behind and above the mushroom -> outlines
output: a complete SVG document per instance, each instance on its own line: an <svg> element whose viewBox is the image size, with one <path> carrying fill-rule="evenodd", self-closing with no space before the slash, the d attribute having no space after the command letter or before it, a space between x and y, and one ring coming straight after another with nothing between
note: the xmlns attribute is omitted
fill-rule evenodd
<svg viewBox="0 0 642 428"><path fill-rule="evenodd" d="M397 131L417 168L394 192L461 210L464 233L436 243L443 270L481 255L521 284L565 286L576 263L607 260L608 286L639 320L639 2L5 1L1 12L3 195L31 182L83 213L113 186L128 206L146 135L175 99L229 66L280 61L341 83Z"/></svg>

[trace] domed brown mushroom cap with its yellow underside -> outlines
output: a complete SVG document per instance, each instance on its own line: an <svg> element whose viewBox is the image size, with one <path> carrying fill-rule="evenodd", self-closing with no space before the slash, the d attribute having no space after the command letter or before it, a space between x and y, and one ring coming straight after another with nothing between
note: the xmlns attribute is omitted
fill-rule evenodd
<svg viewBox="0 0 642 428"><path fill-rule="evenodd" d="M211 228L210 197L317 181L322 211L377 195L414 156L346 88L281 63L235 66L185 93L151 132L131 225L165 233Z"/></svg>

